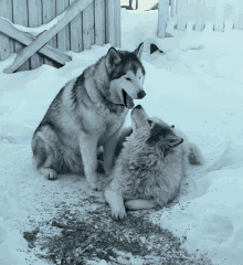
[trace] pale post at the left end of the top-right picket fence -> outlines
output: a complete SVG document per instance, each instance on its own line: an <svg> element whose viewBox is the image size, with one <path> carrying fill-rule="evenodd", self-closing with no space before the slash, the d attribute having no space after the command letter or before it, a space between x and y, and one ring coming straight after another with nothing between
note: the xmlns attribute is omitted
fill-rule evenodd
<svg viewBox="0 0 243 265"><path fill-rule="evenodd" d="M159 0L157 36L162 39L166 36L166 25L169 18L169 0Z"/></svg>

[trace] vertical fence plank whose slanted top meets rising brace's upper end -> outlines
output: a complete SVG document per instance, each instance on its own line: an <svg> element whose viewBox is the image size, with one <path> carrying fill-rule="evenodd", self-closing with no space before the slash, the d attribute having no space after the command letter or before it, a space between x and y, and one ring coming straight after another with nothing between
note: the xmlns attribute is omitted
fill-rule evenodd
<svg viewBox="0 0 243 265"><path fill-rule="evenodd" d="M92 22L92 20L94 20L94 15L92 15L93 11L93 2L83 11L84 50L91 49L92 44L94 44L94 22Z"/></svg>

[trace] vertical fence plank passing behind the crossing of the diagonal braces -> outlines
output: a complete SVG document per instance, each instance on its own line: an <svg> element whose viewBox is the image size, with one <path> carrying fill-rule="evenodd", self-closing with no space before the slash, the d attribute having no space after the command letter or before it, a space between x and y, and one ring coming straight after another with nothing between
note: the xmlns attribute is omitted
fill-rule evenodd
<svg viewBox="0 0 243 265"><path fill-rule="evenodd" d="M42 24L42 4L41 0L31 0L28 1L29 4L29 26L36 28ZM34 54L30 59L31 68L34 70L43 64L43 59Z"/></svg>

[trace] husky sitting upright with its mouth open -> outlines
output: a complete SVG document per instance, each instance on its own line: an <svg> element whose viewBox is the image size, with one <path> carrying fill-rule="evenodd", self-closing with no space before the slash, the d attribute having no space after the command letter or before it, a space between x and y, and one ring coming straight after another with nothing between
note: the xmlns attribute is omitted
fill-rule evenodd
<svg viewBox="0 0 243 265"><path fill-rule="evenodd" d="M142 43L134 52L110 47L56 95L32 139L34 166L46 179L85 173L96 190L99 146L105 172L110 173L116 140L133 99L146 95L142 47Z"/></svg>

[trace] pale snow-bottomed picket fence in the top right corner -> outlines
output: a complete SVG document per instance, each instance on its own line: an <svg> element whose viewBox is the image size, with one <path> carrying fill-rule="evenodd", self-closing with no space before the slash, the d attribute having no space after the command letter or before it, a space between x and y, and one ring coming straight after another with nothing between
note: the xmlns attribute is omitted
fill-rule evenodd
<svg viewBox="0 0 243 265"><path fill-rule="evenodd" d="M243 0L159 0L158 38L165 38L169 17L177 15L176 29L183 31L190 23L197 31L202 31L207 22L213 22L213 30L223 32L226 21L232 29L243 30Z"/></svg>

